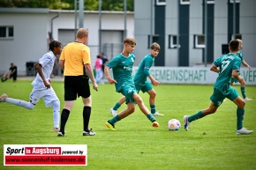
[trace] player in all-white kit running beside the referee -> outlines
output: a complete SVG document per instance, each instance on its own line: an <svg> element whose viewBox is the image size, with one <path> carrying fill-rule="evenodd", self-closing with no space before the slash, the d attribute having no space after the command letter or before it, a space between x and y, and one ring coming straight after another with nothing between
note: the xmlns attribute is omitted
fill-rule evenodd
<svg viewBox="0 0 256 170"><path fill-rule="evenodd" d="M37 74L31 84L34 88L30 93L29 102L9 98L5 93L0 97L0 102L8 102L27 109L33 109L35 104L42 98L46 107L53 107L54 131L59 131L60 101L56 96L56 92L50 86L50 74L53 70L56 55L60 55L61 52L62 44L58 41L51 41L49 43L49 52L43 55L38 63L34 64Z"/></svg>

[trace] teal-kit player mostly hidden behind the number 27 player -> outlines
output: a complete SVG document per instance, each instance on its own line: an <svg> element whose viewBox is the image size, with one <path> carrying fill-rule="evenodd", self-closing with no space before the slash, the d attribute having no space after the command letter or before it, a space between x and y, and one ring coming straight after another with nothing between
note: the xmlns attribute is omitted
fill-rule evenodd
<svg viewBox="0 0 256 170"><path fill-rule="evenodd" d="M237 41L239 42L239 51L237 52L237 56L239 56L239 58L241 59L241 63L243 65L245 65L245 67L247 67L249 70L251 70L251 66L248 63L245 62L244 55L242 53L243 41L241 41L240 39L237 39ZM244 98L245 101L251 101L252 99L246 97L246 93L245 93L245 80L241 76L240 71L238 72L238 74L239 74L239 77L240 77L240 80L241 80L241 82L240 82L240 90L241 90L241 93L243 95L243 98ZM237 78L233 78L232 77L231 80L230 80L230 85L233 85L234 82L237 83L238 80L237 80Z"/></svg>

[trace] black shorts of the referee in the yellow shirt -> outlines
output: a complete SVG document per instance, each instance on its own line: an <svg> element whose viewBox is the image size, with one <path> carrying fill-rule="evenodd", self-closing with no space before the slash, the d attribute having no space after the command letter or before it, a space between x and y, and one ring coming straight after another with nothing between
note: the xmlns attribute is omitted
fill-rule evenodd
<svg viewBox="0 0 256 170"><path fill-rule="evenodd" d="M89 78L87 76L64 77L64 100L76 100L77 97L90 97Z"/></svg>

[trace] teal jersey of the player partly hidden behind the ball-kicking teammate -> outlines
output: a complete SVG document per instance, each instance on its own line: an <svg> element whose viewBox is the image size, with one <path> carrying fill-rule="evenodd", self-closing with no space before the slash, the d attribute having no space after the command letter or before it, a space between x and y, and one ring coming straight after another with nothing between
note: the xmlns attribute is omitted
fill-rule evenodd
<svg viewBox="0 0 256 170"><path fill-rule="evenodd" d="M146 55L141 63L139 63L139 68L137 72L134 75L134 83L136 85L143 84L145 81L147 81L147 77L149 76L149 69L154 64L154 58L152 55Z"/></svg>

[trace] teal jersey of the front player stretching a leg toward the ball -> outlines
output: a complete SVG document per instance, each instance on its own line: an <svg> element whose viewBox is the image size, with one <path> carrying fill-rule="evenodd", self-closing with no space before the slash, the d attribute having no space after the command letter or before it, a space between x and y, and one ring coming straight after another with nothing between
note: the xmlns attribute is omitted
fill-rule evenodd
<svg viewBox="0 0 256 170"><path fill-rule="evenodd" d="M113 77L117 81L116 90L121 92L124 85L134 85L132 79L132 66L135 61L135 55L124 56L122 53L115 56L107 66L113 70Z"/></svg>

